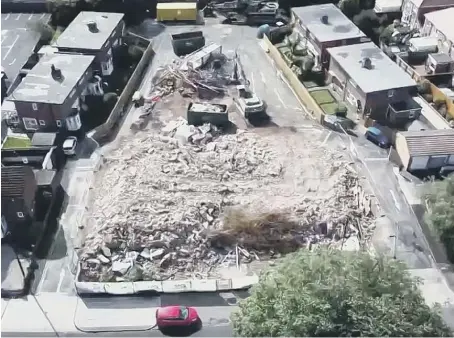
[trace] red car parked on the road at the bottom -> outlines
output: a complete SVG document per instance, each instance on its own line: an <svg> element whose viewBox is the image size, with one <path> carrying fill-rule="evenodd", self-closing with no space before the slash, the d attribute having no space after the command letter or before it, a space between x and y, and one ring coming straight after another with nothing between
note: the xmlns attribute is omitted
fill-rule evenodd
<svg viewBox="0 0 454 338"><path fill-rule="evenodd" d="M159 330L188 328L199 330L202 326L197 310L193 307L172 305L156 310Z"/></svg>

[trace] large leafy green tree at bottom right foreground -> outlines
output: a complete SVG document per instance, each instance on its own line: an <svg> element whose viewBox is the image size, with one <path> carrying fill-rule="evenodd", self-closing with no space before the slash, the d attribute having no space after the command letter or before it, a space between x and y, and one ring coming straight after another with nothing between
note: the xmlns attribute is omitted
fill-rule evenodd
<svg viewBox="0 0 454 338"><path fill-rule="evenodd" d="M301 250L264 272L232 315L241 337L449 336L398 261Z"/></svg>

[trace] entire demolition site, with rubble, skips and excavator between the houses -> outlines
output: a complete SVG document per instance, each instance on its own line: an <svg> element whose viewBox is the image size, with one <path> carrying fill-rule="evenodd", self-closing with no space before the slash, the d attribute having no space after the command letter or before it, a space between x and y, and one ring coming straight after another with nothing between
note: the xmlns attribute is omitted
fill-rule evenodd
<svg viewBox="0 0 454 338"><path fill-rule="evenodd" d="M227 50L230 34L223 45L175 35L174 54L186 56L156 51L166 62L103 154L78 280L231 278L302 247L366 246L375 220L348 150L291 106L266 54ZM181 52L182 36L199 48ZM293 101L275 104L282 90Z"/></svg>

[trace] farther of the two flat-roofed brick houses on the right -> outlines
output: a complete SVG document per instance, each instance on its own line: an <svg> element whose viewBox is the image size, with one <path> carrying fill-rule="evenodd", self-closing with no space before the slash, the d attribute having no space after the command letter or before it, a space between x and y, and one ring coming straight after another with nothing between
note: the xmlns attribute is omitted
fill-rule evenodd
<svg viewBox="0 0 454 338"><path fill-rule="evenodd" d="M321 63L329 66L330 47L368 42L370 39L333 4L294 7L295 30L308 41L308 48Z"/></svg>

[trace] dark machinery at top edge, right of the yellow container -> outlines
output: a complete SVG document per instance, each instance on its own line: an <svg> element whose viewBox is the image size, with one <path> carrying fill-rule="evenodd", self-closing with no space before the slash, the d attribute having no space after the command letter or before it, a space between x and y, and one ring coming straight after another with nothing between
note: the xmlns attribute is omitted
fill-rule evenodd
<svg viewBox="0 0 454 338"><path fill-rule="evenodd" d="M285 11L279 9L279 3L266 0L235 0L212 5L214 11L226 19L224 23L247 25L275 25L287 23Z"/></svg>

